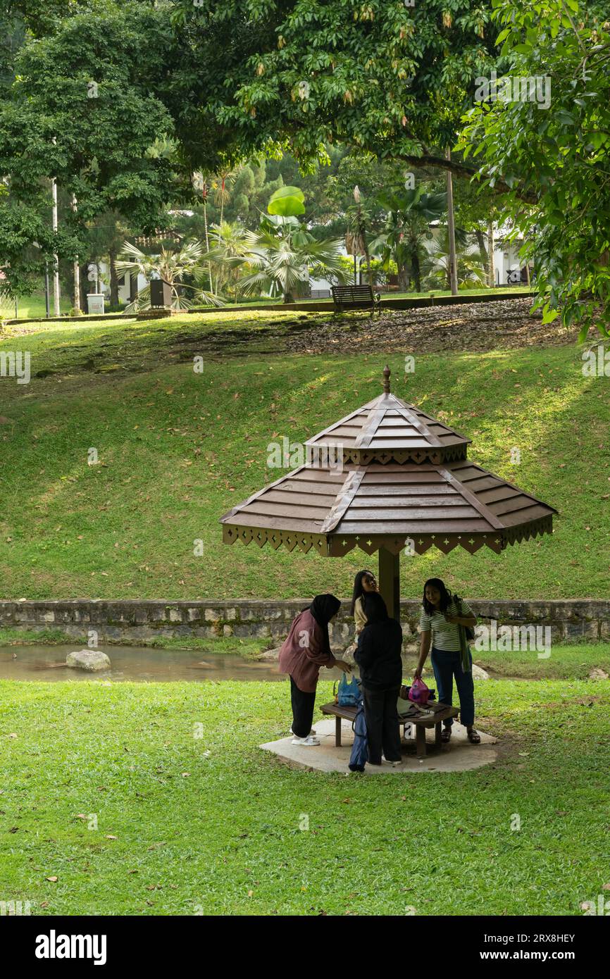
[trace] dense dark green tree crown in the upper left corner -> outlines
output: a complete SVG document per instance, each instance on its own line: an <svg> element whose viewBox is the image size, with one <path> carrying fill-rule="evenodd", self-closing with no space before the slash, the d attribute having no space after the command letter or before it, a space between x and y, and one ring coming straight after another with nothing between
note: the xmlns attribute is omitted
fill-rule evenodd
<svg viewBox="0 0 610 979"><path fill-rule="evenodd" d="M134 228L150 227L162 219L175 179L163 152L173 122L159 95L173 57L167 11L51 3L40 14L54 29L37 37L28 21L32 5L22 6L29 33L12 55L13 82L0 107L0 238L14 288L40 272L32 241L44 256L75 256L86 222L107 210ZM70 8L64 19L63 6ZM55 238L53 177L77 201Z"/></svg>

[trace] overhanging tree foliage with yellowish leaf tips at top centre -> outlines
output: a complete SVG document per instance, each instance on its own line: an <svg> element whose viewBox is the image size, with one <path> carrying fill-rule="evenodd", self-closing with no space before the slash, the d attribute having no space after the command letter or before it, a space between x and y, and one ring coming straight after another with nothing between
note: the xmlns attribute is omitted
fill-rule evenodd
<svg viewBox="0 0 610 979"><path fill-rule="evenodd" d="M181 140L200 163L210 150L206 133L220 123L230 156L289 140L307 163L340 141L381 159L445 165L475 78L493 68L490 7L489 0L178 0Z"/></svg>

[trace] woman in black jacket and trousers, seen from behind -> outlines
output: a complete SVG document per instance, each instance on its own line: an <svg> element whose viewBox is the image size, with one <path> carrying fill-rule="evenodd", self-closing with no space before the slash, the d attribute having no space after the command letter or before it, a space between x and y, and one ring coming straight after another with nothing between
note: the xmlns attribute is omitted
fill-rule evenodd
<svg viewBox="0 0 610 979"><path fill-rule="evenodd" d="M368 592L363 600L367 625L360 632L353 658L360 668L369 765L381 765L381 752L394 766L402 761L397 700L402 682L402 629L388 617L381 595Z"/></svg>

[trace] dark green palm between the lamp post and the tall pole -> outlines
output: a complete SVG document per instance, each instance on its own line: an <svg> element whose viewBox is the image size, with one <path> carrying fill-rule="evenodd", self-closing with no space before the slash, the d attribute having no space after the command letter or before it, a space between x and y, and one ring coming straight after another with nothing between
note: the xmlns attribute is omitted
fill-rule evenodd
<svg viewBox="0 0 610 979"><path fill-rule="evenodd" d="M431 221L446 211L446 193L428 193L421 184L415 190L402 187L383 191L377 200L388 211L386 228L369 248L384 264L394 259L399 270L399 288L408 291L411 280L421 292L421 264L427 255L426 240L432 238Z"/></svg>

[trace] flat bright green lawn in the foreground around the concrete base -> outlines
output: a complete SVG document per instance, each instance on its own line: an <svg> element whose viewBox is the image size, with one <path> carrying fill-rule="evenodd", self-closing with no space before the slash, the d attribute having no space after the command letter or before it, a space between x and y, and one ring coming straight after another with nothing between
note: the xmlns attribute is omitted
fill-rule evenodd
<svg viewBox="0 0 610 979"><path fill-rule="evenodd" d="M258 750L287 733L286 683L2 681L0 895L32 914L579 915L610 881L610 682L476 692L493 766L348 779Z"/></svg>

